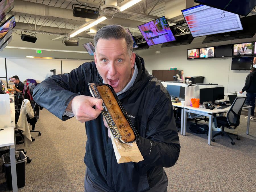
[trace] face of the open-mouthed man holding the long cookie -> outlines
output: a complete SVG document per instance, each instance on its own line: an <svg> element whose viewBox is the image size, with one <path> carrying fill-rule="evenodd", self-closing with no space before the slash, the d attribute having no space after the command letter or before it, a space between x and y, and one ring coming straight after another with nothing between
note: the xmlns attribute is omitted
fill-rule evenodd
<svg viewBox="0 0 256 192"><path fill-rule="evenodd" d="M135 53L127 52L125 39L99 39L94 53L94 60L104 83L120 92L131 80Z"/></svg>

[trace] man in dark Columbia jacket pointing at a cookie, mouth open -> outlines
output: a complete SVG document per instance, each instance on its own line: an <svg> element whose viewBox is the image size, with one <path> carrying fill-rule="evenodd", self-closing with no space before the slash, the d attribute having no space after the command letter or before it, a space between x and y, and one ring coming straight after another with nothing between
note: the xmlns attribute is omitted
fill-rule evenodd
<svg viewBox="0 0 256 192"><path fill-rule="evenodd" d="M62 120L75 116L86 122L85 191L167 191L163 167L173 166L180 151L168 92L132 52L132 37L122 26L98 30L94 46L95 62L49 77L35 87L33 99ZM140 135L143 161L117 164L102 100L91 96L88 82L113 87Z"/></svg>

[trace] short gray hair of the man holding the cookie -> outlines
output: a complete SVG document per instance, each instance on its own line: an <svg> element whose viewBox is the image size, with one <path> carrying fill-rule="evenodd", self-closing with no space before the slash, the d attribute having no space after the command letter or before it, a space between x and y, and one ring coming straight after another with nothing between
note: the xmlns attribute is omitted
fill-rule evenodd
<svg viewBox="0 0 256 192"><path fill-rule="evenodd" d="M95 51L99 39L125 39L128 54L131 55L133 52L133 38L121 25L106 25L98 30L93 38Z"/></svg>

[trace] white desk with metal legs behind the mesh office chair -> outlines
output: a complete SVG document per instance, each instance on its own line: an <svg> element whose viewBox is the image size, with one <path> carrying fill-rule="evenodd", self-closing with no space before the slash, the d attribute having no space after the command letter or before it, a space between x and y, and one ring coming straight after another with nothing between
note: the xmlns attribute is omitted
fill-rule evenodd
<svg viewBox="0 0 256 192"><path fill-rule="evenodd" d="M230 106L231 107L231 106ZM209 118L209 131L208 131L208 145L211 144L211 138L212 138L212 118L214 113L223 113L228 112L230 107L227 107L225 109L217 109L217 107L213 110L210 109L199 109L191 106L185 106L184 107L184 117L183 117L183 135L186 135L187 130L187 112L195 113L198 115L206 116ZM243 107L243 109L248 109L248 116L251 115L251 106ZM247 130L246 134L249 134L249 128L250 128L250 119L247 120Z"/></svg>

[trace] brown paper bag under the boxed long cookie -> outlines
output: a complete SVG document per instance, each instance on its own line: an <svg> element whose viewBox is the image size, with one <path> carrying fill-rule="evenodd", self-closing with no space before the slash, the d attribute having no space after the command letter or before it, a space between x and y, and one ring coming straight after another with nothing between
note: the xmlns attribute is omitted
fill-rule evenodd
<svg viewBox="0 0 256 192"><path fill-rule="evenodd" d="M137 143L121 143L118 139L115 139L113 137L112 133L110 134L110 136L117 163L137 163L144 160L137 146Z"/></svg>

